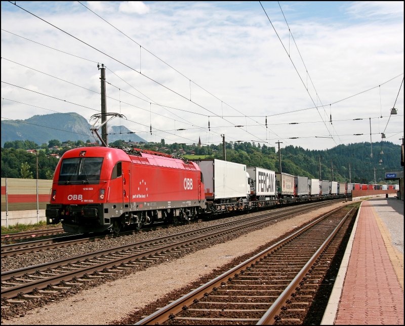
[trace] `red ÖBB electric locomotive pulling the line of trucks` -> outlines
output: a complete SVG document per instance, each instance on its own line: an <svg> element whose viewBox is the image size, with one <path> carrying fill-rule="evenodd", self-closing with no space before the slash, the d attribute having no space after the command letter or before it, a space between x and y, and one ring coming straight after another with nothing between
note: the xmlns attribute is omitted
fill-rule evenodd
<svg viewBox="0 0 405 326"><path fill-rule="evenodd" d="M63 154L55 170L47 224L66 232L119 232L125 225L191 219L206 208L194 162L112 147Z"/></svg>

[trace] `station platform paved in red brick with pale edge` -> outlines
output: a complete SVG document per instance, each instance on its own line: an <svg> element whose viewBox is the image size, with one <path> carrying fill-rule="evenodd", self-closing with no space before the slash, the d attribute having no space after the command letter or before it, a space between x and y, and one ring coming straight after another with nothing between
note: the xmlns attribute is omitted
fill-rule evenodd
<svg viewBox="0 0 405 326"><path fill-rule="evenodd" d="M321 325L403 325L403 200L361 203Z"/></svg>

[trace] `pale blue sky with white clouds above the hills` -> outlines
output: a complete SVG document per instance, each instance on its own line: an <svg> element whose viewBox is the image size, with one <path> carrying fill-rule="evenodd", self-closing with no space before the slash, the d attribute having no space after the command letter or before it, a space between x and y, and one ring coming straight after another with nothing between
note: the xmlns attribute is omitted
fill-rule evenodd
<svg viewBox="0 0 405 326"><path fill-rule="evenodd" d="M99 63L107 112L125 116L109 124L147 141L402 142L403 2L1 6L2 120L92 123Z"/></svg>

